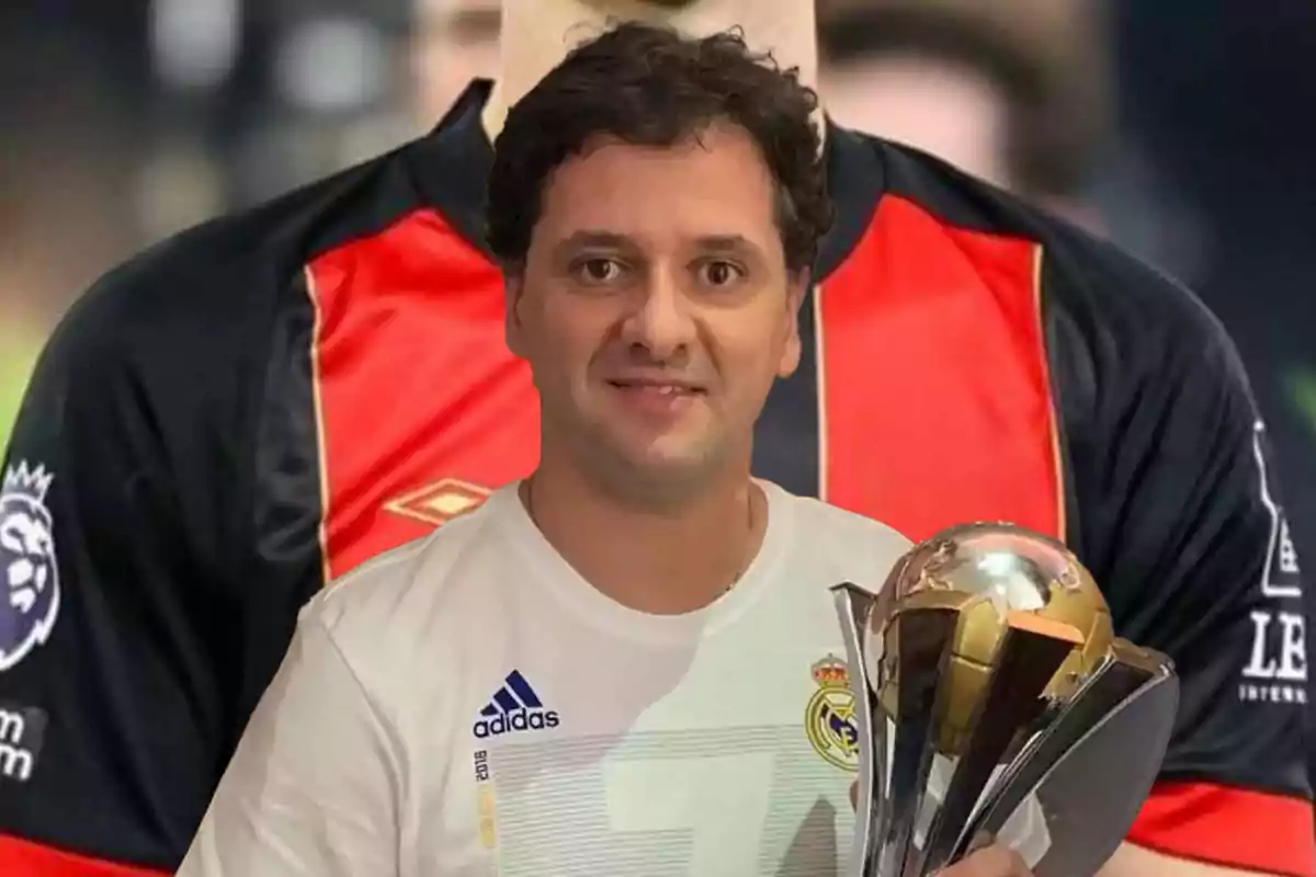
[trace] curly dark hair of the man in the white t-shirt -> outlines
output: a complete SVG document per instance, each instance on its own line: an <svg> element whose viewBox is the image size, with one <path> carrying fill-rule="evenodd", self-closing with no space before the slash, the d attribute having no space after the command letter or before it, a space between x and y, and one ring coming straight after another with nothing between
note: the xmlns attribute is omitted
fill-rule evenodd
<svg viewBox="0 0 1316 877"><path fill-rule="evenodd" d="M797 70L750 51L740 32L692 39L620 24L574 49L508 113L488 179L488 246L509 270L524 266L549 175L588 141L672 146L725 121L758 145L779 189L787 268L808 271L832 222L816 108Z"/></svg>

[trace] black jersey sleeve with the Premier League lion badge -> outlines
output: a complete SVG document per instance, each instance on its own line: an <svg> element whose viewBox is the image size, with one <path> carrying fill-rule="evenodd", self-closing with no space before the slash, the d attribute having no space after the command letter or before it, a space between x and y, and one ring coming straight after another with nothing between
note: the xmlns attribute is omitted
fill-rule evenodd
<svg viewBox="0 0 1316 877"><path fill-rule="evenodd" d="M57 329L4 456L7 876L171 872L222 769L234 368L204 314L168 323L186 275L139 262Z"/></svg>

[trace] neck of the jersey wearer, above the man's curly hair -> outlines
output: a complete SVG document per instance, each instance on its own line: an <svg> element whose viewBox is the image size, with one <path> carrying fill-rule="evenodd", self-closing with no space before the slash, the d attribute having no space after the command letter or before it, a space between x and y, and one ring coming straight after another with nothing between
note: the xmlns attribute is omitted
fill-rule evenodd
<svg viewBox="0 0 1316 877"><path fill-rule="evenodd" d="M799 67L805 85L817 83L812 0L699 0L678 11L641 0L517 0L504 4L500 37L503 63L483 112L490 139L503 130L507 109L553 70L571 47L599 34L616 20L670 24L690 36L740 28L750 47L771 51L782 67Z"/></svg>

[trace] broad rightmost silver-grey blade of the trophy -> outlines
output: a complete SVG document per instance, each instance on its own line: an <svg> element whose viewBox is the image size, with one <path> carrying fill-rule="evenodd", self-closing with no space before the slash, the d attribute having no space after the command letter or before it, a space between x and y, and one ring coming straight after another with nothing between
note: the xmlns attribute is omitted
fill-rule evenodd
<svg viewBox="0 0 1316 877"><path fill-rule="evenodd" d="M1120 824L1092 831L1088 823L1088 830L1080 832L1083 838L1070 843L1069 864L1050 873L1095 873L1123 839L1150 790L1169 744L1177 709L1178 680L1167 667L1155 671L1119 659L1108 660L1084 680L1054 718L1045 721L1013 759L976 815L965 826L954 857L963 856L979 832L998 835L1029 795L1037 795L1053 780L1059 784L1061 768L1069 763L1063 780L1084 774L1088 776L1084 781L1087 786L1107 788L1113 784L1111 803L1105 805L1101 815L1103 822ZM1083 794L1084 782L1074 790L1075 797ZM1142 784L1141 794L1130 793L1130 785ZM1088 801L1088 806L1099 809L1095 801ZM1048 811L1049 827L1065 828L1045 802L1044 810ZM1103 838L1113 840L1099 840ZM1054 840L1051 848L1057 845ZM1044 861L1046 859L1054 861L1050 853ZM1074 861L1090 861L1091 868L1073 870ZM1042 870L1034 872L1038 877L1042 874Z"/></svg>

